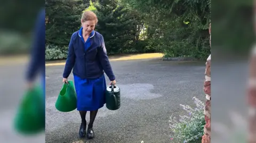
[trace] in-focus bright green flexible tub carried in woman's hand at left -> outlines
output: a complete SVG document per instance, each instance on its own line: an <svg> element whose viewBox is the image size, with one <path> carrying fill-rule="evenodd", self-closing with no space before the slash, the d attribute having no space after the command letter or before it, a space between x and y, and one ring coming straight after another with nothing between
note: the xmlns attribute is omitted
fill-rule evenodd
<svg viewBox="0 0 256 143"><path fill-rule="evenodd" d="M76 109L77 96L73 81L63 84L55 107L60 112L70 112Z"/></svg>

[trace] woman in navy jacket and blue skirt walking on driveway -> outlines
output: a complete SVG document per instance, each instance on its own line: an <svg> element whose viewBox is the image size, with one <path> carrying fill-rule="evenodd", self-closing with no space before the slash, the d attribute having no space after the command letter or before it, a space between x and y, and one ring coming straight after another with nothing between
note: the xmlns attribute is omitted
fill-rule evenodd
<svg viewBox="0 0 256 143"><path fill-rule="evenodd" d="M82 28L74 32L68 48L68 57L63 72L63 82L68 83L68 76L73 69L77 94L77 110L82 119L79 136L86 134L86 112L90 111L87 138L94 137L93 122L98 109L105 104L106 81L104 72L114 83L115 75L108 60L104 39L94 31L97 16L86 11L81 18Z"/></svg>

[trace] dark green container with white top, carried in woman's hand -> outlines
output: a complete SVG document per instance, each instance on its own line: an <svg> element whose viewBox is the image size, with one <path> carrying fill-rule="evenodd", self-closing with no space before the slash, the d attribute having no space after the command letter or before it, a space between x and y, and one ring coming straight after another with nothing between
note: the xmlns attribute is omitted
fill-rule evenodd
<svg viewBox="0 0 256 143"><path fill-rule="evenodd" d="M106 90L106 107L109 110L118 110L121 106L120 88L111 83Z"/></svg>

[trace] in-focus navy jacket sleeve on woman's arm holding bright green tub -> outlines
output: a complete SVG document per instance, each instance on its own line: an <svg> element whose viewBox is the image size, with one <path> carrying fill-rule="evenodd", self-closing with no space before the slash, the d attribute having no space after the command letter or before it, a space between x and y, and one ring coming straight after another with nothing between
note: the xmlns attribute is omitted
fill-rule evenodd
<svg viewBox="0 0 256 143"><path fill-rule="evenodd" d="M66 60L66 64L65 64L65 69L63 72L63 78L68 78L69 74L71 73L74 65L75 65L75 50L74 50L74 33L71 36L70 42L69 42L69 46L68 46L68 56L67 56L67 60Z"/></svg>

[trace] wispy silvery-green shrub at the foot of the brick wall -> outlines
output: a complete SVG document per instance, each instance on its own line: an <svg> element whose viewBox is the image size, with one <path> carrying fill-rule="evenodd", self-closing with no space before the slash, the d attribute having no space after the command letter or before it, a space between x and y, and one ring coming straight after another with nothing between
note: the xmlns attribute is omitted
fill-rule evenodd
<svg viewBox="0 0 256 143"><path fill-rule="evenodd" d="M187 142L187 143L201 143L204 133L204 103L201 100L193 97L196 104L196 108L192 108L188 105L180 106L189 115L180 115L179 121L173 116L170 117L170 128L173 132L173 141Z"/></svg>

